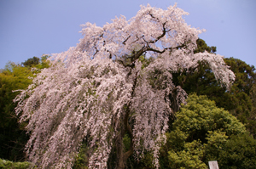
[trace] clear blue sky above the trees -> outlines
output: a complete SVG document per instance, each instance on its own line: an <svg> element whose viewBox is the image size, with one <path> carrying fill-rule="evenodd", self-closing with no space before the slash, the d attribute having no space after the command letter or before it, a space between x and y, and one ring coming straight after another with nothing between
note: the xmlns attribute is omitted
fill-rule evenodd
<svg viewBox="0 0 256 169"><path fill-rule="evenodd" d="M177 3L185 20L217 54L256 65L256 0L0 0L0 68L76 46L86 22L104 25L115 16L135 16L140 5Z"/></svg>

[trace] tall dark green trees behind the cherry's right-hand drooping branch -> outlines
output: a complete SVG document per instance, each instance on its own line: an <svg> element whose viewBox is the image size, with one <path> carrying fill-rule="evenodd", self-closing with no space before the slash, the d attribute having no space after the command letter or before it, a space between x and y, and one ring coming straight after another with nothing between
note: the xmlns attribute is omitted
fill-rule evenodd
<svg viewBox="0 0 256 169"><path fill-rule="evenodd" d="M195 52L208 51L216 52L215 47L208 47L207 43L202 39L197 40L197 49ZM230 66L236 75L236 81L227 91L221 87L220 83L215 79L212 70L206 62L200 62L196 71L177 72L174 75L174 81L177 85L183 87L187 93L197 93L198 95L207 95L209 99L216 102L218 107L229 110L232 115L246 125L247 130L256 136L255 121L253 120L253 95L250 91L255 84L256 73L253 65L247 65L240 59L225 58L225 63Z"/></svg>

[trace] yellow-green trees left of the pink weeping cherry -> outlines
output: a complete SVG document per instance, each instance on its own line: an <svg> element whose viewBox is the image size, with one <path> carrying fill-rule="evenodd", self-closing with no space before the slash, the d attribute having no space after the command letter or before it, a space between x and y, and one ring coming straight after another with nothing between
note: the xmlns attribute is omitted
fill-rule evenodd
<svg viewBox="0 0 256 169"><path fill-rule="evenodd" d="M40 69L49 66L46 58L47 56L42 57L38 65L27 67L9 62L0 73L0 158L9 161L26 160L23 151L28 140L24 130L26 122L18 123L19 117L15 115L16 104L13 100L20 92L14 91L25 89L32 83L32 78L29 77L34 77L40 70L31 70L31 66Z"/></svg>

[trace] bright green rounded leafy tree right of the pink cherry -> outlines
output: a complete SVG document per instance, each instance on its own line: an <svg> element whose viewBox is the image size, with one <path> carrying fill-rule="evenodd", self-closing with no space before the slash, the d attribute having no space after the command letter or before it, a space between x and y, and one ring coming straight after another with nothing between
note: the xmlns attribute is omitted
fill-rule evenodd
<svg viewBox="0 0 256 169"><path fill-rule="evenodd" d="M172 132L166 134L166 145L160 151L162 168L207 168L207 162L218 159L230 140L246 132L234 115L218 108L207 96L190 94L187 102L177 111ZM252 138L249 144L253 143ZM230 151L230 157L234 152ZM249 161L250 157L241 159Z"/></svg>

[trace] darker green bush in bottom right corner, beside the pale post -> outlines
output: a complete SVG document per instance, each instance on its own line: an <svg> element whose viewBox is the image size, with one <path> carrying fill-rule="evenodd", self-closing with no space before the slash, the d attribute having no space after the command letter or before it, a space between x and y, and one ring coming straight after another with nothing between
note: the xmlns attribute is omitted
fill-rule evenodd
<svg viewBox="0 0 256 169"><path fill-rule="evenodd" d="M247 132L209 138L206 144L206 160L218 161L219 168L254 169L256 168L256 140Z"/></svg>

